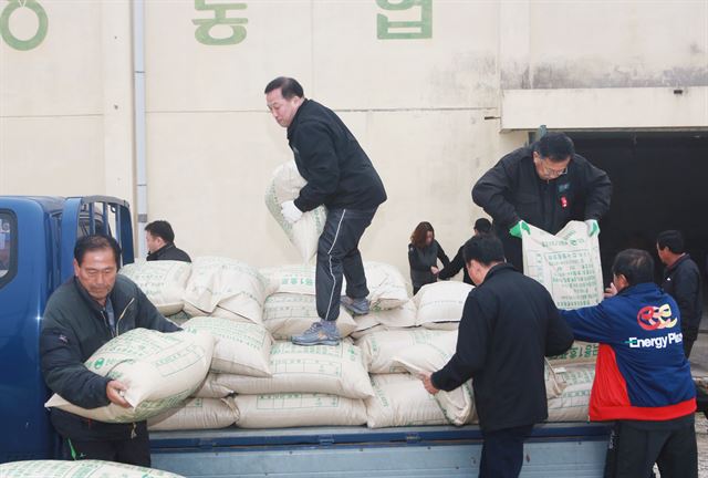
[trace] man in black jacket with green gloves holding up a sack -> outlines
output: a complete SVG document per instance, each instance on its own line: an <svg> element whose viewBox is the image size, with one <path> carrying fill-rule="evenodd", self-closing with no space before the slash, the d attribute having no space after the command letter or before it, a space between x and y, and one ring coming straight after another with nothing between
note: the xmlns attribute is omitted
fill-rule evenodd
<svg viewBox="0 0 708 478"><path fill-rule="evenodd" d="M611 196L605 172L575 154L563 133L506 155L472 188L472 200L492 217L507 260L519 270L529 224L554 235L571 220L585 220L590 235L597 235Z"/></svg>

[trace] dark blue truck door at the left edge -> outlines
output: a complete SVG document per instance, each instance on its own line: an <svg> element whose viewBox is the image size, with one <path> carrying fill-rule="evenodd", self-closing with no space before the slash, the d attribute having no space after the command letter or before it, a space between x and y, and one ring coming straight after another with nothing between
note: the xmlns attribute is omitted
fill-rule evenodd
<svg viewBox="0 0 708 478"><path fill-rule="evenodd" d="M9 257L0 278L0 463L46 457L53 448L38 354L53 262L46 218L34 201L0 204L0 246Z"/></svg>

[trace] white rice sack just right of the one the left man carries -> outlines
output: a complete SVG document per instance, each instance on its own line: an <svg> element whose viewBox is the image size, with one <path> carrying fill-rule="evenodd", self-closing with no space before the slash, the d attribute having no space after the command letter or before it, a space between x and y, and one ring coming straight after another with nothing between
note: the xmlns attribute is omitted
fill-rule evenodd
<svg viewBox="0 0 708 478"><path fill-rule="evenodd" d="M272 339L263 325L219 318L195 318L184 329L215 336L211 372L270 376Z"/></svg>

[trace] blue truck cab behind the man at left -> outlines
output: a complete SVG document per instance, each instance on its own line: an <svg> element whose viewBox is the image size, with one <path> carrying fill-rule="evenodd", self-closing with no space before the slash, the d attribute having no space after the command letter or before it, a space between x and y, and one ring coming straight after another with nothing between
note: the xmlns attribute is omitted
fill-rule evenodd
<svg viewBox="0 0 708 478"><path fill-rule="evenodd" d="M49 459L59 440L44 402L39 336L52 292L73 276L76 239L116 238L133 262L128 204L111 197L0 196L0 463Z"/></svg>

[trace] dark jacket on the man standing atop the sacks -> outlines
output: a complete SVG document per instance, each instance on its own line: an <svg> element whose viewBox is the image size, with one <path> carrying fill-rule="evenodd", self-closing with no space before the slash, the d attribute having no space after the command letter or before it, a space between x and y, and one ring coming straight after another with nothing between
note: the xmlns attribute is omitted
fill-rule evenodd
<svg viewBox="0 0 708 478"><path fill-rule="evenodd" d="M375 209L386 200L372 162L342 119L330 108L305 100L288 127L288 142L298 172L308 181L295 206L309 211Z"/></svg>

